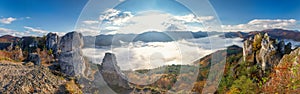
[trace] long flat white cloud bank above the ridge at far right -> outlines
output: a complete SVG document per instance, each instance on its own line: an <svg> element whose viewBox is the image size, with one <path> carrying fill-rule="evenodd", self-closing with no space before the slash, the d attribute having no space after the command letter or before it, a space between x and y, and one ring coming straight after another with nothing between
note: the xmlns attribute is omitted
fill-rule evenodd
<svg viewBox="0 0 300 94"><path fill-rule="evenodd" d="M295 19L254 19L246 24L222 25L224 31L260 31L265 29L299 29Z"/></svg>

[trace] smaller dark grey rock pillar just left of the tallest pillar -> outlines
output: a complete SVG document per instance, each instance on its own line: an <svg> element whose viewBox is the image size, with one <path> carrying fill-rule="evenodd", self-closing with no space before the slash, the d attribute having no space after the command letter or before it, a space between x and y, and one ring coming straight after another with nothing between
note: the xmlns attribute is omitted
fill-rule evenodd
<svg viewBox="0 0 300 94"><path fill-rule="evenodd" d="M58 53L58 42L59 36L55 33L49 33L46 36L46 48L47 50L51 50L52 54L56 56Z"/></svg>

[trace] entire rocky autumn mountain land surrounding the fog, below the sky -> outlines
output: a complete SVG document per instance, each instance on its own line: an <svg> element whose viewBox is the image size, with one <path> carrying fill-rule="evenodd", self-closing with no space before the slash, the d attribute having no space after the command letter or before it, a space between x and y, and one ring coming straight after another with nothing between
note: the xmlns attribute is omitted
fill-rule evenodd
<svg viewBox="0 0 300 94"><path fill-rule="evenodd" d="M173 40L166 37L168 34L174 36L177 33L149 32L115 36L119 43L169 42L208 37L205 32L187 32L178 34L178 38ZM299 41L298 31L269 29L225 33L226 38L242 38L243 46L230 45L188 65L121 70L119 63L122 62L117 61L114 53L105 53L99 63L91 62L83 55L82 49L89 47L88 43L93 43L91 41L96 46L113 45L115 36L92 37L78 32L69 32L64 36L48 33L43 37L4 35L0 37L0 92L236 94L296 93L300 90L300 49L284 41ZM226 57L226 62L215 62L215 54ZM222 76L211 79L211 70L224 72Z"/></svg>

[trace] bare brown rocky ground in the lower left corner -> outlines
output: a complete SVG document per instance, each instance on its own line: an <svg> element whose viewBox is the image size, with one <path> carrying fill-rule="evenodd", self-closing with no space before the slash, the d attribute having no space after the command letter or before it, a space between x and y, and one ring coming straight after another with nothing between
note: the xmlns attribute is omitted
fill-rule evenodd
<svg viewBox="0 0 300 94"><path fill-rule="evenodd" d="M0 62L0 93L58 93L67 82L47 67Z"/></svg>

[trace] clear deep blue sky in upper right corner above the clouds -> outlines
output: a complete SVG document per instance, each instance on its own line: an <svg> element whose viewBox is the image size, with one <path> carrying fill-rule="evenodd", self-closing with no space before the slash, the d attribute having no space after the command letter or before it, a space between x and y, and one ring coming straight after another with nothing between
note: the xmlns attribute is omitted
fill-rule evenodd
<svg viewBox="0 0 300 94"><path fill-rule="evenodd" d="M210 0L223 24L300 18L300 0Z"/></svg>

